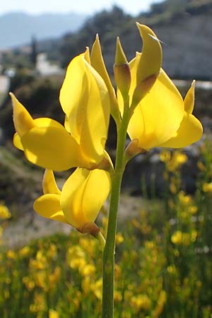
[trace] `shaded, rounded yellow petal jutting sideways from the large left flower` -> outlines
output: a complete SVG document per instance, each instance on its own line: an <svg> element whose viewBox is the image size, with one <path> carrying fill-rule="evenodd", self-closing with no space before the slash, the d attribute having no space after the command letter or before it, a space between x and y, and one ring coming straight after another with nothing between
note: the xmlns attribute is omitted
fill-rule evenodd
<svg viewBox="0 0 212 318"><path fill-rule="evenodd" d="M34 127L21 142L26 158L40 167L61 171L86 165L78 144L64 127Z"/></svg>

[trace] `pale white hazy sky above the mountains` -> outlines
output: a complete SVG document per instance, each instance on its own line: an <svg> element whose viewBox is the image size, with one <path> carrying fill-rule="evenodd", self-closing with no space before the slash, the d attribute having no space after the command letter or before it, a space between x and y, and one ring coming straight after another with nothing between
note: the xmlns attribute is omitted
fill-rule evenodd
<svg viewBox="0 0 212 318"><path fill-rule="evenodd" d="M42 12L81 12L95 13L102 8L111 8L117 4L124 11L131 14L138 14L148 10L150 4L161 2L162 0L2 0L0 14L9 11L25 11L28 13Z"/></svg>

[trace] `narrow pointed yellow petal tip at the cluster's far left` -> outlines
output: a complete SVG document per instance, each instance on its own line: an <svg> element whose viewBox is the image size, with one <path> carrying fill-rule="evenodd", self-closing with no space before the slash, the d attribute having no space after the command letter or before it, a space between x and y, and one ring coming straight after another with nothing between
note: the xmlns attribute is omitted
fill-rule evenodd
<svg viewBox="0 0 212 318"><path fill-rule="evenodd" d="M21 137L29 129L35 126L33 118L30 116L29 112L25 107L17 100L13 93L10 93L12 103L13 103L13 122L16 132Z"/></svg>

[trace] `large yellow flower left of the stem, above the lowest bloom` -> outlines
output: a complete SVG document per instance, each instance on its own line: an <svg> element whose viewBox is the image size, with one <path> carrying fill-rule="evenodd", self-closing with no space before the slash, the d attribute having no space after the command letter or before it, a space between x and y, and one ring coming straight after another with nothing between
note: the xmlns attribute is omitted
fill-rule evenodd
<svg viewBox="0 0 212 318"><path fill-rule="evenodd" d="M49 118L33 119L11 93L14 145L26 158L50 170L98 167L106 157L105 142L110 119L110 97L102 77L90 65L88 49L75 57L61 87L64 126Z"/></svg>

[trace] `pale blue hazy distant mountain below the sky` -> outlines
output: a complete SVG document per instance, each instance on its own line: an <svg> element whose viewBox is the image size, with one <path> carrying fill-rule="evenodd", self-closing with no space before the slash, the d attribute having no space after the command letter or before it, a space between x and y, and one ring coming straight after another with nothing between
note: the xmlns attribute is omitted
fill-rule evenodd
<svg viewBox="0 0 212 318"><path fill-rule="evenodd" d="M86 16L78 13L6 13L0 16L0 49L25 45L31 37L42 40L73 32L83 25Z"/></svg>

